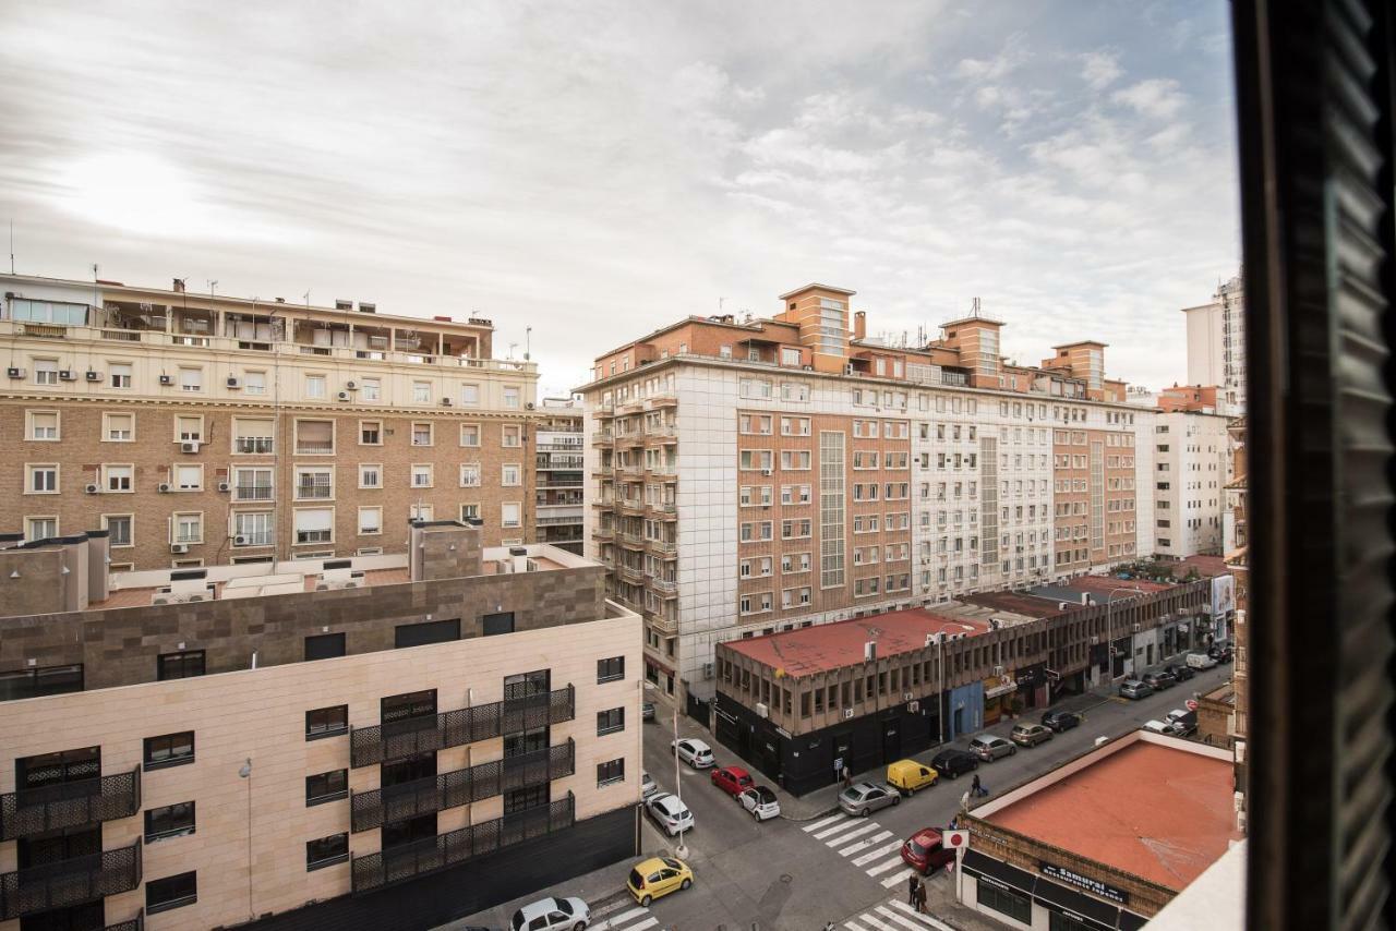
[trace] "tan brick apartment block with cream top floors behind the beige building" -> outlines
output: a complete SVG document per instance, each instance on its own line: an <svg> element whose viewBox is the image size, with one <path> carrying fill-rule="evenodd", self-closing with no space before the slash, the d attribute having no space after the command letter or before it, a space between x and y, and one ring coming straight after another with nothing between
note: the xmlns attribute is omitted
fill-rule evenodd
<svg viewBox="0 0 1396 931"><path fill-rule="evenodd" d="M0 275L0 529L116 569L402 553L409 519L535 536L533 363L463 322Z"/></svg>

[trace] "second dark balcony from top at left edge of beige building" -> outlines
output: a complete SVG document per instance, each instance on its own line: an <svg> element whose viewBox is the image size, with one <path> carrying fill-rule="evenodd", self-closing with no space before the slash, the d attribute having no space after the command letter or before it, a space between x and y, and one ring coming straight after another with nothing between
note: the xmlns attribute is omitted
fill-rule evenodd
<svg viewBox="0 0 1396 931"><path fill-rule="evenodd" d="M0 921L95 902L141 885L141 842L0 875Z"/></svg>

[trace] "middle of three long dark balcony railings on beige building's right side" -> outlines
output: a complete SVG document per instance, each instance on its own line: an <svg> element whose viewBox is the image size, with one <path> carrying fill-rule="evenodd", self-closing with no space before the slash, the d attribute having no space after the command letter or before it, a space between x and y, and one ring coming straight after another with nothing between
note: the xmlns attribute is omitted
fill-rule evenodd
<svg viewBox="0 0 1396 931"><path fill-rule="evenodd" d="M522 757L494 759L401 786L355 793L349 804L350 825L356 833L373 831L388 822L483 801L515 789L540 786L571 776L575 770L577 745L568 738L565 744Z"/></svg>

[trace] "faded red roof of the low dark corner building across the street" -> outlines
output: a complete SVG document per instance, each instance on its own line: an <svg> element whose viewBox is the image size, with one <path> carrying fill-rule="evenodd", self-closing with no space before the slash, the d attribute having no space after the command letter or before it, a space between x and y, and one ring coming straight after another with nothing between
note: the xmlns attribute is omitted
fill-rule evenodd
<svg viewBox="0 0 1396 931"><path fill-rule="evenodd" d="M877 655L881 659L926 649L927 634L945 631L974 636L988 630L986 621L941 617L923 607L913 607L766 636L725 641L722 646L783 670L786 676L812 676L861 663L863 645L868 641L877 641Z"/></svg>

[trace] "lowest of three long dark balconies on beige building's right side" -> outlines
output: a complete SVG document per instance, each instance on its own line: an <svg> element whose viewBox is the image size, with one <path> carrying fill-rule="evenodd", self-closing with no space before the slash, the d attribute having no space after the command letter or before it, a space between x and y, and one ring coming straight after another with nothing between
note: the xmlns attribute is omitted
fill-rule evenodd
<svg viewBox="0 0 1396 931"><path fill-rule="evenodd" d="M350 874L353 895L376 892L535 837L567 831L574 819L572 793L567 793L567 798L550 805L539 805L436 837L355 857Z"/></svg>

